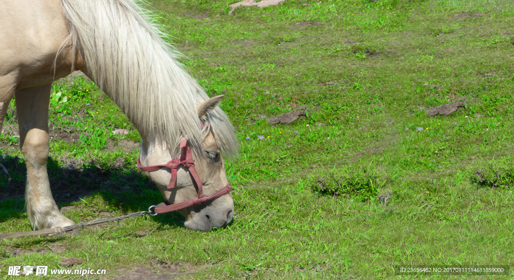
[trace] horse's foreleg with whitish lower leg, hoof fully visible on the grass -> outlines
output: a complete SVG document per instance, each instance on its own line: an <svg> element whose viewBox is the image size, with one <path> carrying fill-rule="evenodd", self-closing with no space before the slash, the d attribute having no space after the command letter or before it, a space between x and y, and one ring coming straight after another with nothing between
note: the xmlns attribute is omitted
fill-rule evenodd
<svg viewBox="0 0 514 280"><path fill-rule="evenodd" d="M46 170L48 160L48 105L51 84L15 93L20 148L27 162L25 201L34 229L75 225L61 214L53 200Z"/></svg>

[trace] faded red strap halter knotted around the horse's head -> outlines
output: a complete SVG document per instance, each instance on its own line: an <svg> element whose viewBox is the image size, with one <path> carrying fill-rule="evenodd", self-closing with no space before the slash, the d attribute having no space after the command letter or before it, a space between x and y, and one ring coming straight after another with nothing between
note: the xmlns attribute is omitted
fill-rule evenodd
<svg viewBox="0 0 514 280"><path fill-rule="evenodd" d="M146 171L146 172L152 172L159 170L163 167L167 167L171 170L171 179L170 183L168 184L168 189L175 188L175 182L177 180L177 168L180 165L183 165L187 169L189 169L189 173L193 176L193 180L196 182L196 186L198 187L198 197L195 199L187 200L180 203L171 204L168 201L164 201L157 205L157 208L155 208L155 213L166 213L171 211L180 210L186 207L190 207L193 205L199 205L201 203L204 203L206 201L214 200L222 195L225 195L230 192L232 189L232 186L230 183L227 183L227 185L214 193L213 195L209 197L204 196L204 188L201 184L200 176L198 176L198 172L196 172L196 168L194 166L194 160L193 160L193 154L191 154L191 148L189 147L189 141L186 139L182 139L180 141L180 149L182 150L180 154L180 158L174 158L166 164L159 164L159 165L152 165L152 166L141 166L141 162L139 161L139 158L137 159L137 167L139 167L140 170Z"/></svg>

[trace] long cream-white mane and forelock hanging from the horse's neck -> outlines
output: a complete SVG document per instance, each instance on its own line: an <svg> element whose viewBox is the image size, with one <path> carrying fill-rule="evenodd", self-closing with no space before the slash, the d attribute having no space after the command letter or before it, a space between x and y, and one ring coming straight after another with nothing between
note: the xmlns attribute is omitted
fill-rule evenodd
<svg viewBox="0 0 514 280"><path fill-rule="evenodd" d="M170 152L185 137L191 151L199 153L203 138L196 105L208 96L177 62L180 54L164 42L162 38L168 35L159 30L151 13L138 6L145 3L61 2L70 32L63 46L70 47L72 55L81 55L87 75L120 107L139 133L166 144ZM222 152L235 156L239 144L225 113L216 107L207 118Z"/></svg>

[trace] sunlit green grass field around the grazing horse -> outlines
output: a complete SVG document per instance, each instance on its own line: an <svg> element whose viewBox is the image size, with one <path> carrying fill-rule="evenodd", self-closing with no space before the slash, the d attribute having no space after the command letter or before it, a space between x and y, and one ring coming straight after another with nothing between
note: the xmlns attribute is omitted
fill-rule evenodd
<svg viewBox="0 0 514 280"><path fill-rule="evenodd" d="M233 222L194 232L170 213L2 240L0 277L75 258L73 269L106 269L100 279L450 277L395 275L397 265L503 265L508 275L472 277L514 278L514 3L286 0L229 15L233 3L150 3L193 77L225 95L242 146L226 163ZM48 168L65 215L161 202L117 106L81 77L53 89ZM426 112L464 98L449 116ZM299 120L268 124L300 106ZM1 233L31 230L14 101L7 117Z"/></svg>

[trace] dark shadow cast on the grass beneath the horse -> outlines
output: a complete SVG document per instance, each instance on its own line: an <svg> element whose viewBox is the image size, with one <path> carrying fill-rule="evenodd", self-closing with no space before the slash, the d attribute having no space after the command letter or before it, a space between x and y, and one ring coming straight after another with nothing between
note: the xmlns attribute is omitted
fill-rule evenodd
<svg viewBox="0 0 514 280"><path fill-rule="evenodd" d="M6 167L11 177L9 180L4 172L0 175L0 222L13 217L23 218L26 216L26 163L19 157L8 155L0 158L0 163ZM80 164L74 159L59 163L48 158L47 169L52 195L60 209L83 199L88 201L86 197L100 196L101 206L96 202L85 202L93 212L119 209L130 214L146 211L163 200L157 186L138 171L127 169L123 158L111 165L94 161ZM157 215L152 219L163 225L183 227L184 218L178 212Z"/></svg>

